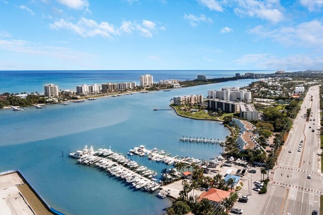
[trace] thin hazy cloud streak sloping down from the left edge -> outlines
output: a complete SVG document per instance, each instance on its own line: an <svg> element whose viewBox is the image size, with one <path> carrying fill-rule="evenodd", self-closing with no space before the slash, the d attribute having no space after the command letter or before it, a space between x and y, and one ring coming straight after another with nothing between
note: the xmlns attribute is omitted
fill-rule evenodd
<svg viewBox="0 0 323 215"><path fill-rule="evenodd" d="M27 55L46 56L66 62L72 61L82 65L90 58L86 53L74 51L66 47L41 45L26 40L0 39L0 49Z"/></svg>

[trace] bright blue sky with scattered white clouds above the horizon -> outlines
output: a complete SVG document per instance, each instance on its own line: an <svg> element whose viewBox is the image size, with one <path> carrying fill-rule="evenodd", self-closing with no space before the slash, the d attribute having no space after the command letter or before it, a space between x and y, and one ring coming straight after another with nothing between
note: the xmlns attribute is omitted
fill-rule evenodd
<svg viewBox="0 0 323 215"><path fill-rule="evenodd" d="M323 69L322 0L0 0L0 70Z"/></svg>

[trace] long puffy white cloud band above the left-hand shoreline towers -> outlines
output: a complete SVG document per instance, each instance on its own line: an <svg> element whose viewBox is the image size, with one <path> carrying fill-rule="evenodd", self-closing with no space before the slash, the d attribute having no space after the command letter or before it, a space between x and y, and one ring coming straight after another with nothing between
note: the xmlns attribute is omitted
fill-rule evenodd
<svg viewBox="0 0 323 215"><path fill-rule="evenodd" d="M60 19L49 24L49 28L55 30L68 29L82 37L99 35L106 38L113 38L113 35L121 35L123 32L131 34L133 31L136 31L145 37L152 37L153 33L157 33L156 23L148 20L142 20L141 24L123 21L120 28L118 28L107 22L97 23L94 20L85 18L81 18L76 24Z"/></svg>

